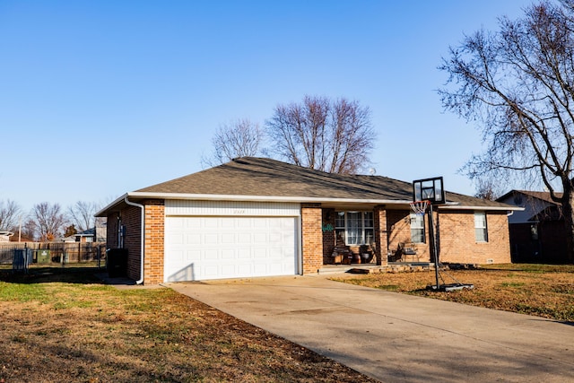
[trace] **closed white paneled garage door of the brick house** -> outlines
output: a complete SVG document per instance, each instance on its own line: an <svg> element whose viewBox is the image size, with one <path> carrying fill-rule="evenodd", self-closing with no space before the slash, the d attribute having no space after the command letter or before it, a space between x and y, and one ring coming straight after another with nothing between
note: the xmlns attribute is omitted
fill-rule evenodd
<svg viewBox="0 0 574 383"><path fill-rule="evenodd" d="M164 279L296 274L296 228L293 217L166 217Z"/></svg>

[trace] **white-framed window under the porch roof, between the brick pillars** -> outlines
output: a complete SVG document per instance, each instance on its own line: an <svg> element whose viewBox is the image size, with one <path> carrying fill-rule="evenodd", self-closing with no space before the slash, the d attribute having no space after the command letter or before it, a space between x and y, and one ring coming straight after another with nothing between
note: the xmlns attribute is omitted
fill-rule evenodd
<svg viewBox="0 0 574 383"><path fill-rule="evenodd" d="M373 212L336 212L335 234L346 245L369 245L374 240Z"/></svg>

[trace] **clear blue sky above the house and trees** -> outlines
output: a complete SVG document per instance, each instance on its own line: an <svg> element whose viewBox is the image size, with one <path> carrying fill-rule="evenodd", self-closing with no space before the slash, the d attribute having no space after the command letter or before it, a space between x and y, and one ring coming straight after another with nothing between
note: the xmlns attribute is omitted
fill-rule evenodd
<svg viewBox="0 0 574 383"><path fill-rule="evenodd" d="M218 126L305 94L370 107L378 175L472 195L457 170L480 135L443 112L437 66L528 4L0 0L0 201L105 205L202 170Z"/></svg>

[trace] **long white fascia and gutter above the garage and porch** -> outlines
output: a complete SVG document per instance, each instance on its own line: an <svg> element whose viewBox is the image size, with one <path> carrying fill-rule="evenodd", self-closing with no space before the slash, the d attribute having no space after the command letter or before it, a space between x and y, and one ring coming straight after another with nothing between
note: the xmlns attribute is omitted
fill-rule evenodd
<svg viewBox="0 0 574 383"><path fill-rule="evenodd" d="M199 201L255 201L255 202L297 202L297 203L322 203L339 202L352 204L409 204L410 200L391 199L354 199L354 198L322 198L309 196L238 196L238 195L214 195L214 194L187 194L187 193L127 193L128 197L157 198L157 199L191 199ZM105 210L105 209L104 209Z"/></svg>

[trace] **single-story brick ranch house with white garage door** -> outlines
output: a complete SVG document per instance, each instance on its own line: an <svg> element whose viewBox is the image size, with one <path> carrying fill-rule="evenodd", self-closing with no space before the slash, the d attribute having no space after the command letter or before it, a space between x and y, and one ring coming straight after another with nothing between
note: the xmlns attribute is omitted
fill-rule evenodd
<svg viewBox="0 0 574 383"><path fill-rule="evenodd" d="M387 265L403 244L429 262L428 220L411 200L410 182L245 157L126 193L96 216L108 248L127 249L127 276L157 284L316 274L340 251ZM440 260L509 263L516 209L447 192L434 215Z"/></svg>

